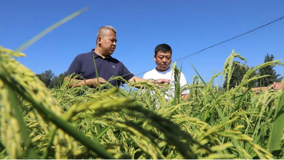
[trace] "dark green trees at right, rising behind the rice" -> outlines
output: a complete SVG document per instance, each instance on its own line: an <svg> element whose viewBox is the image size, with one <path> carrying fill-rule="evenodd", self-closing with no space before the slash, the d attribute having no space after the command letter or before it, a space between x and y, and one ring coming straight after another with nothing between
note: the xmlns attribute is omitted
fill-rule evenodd
<svg viewBox="0 0 284 160"><path fill-rule="evenodd" d="M274 56L273 54L269 55L267 53L267 55L264 58L264 63L267 62L271 62L274 60ZM263 68L260 68L259 70L255 71L252 74L252 77L259 74L260 76L262 75L270 75L267 77L263 77L258 79L257 81L255 81L255 83L253 84L253 87L267 87L271 84L273 84L274 82L280 82L282 80L282 78L278 78L278 76L280 76L280 74L277 74L276 71L273 69L274 66L266 66ZM230 88L233 88L234 86L237 86L241 83L242 77L244 76L245 73L247 73L247 71L250 69L249 66L243 64L241 65L240 62L236 62L234 61L234 65L233 65L233 73L232 73L232 77L230 79ZM228 74L225 77L225 82L223 84L223 88L226 87L226 84L228 82Z"/></svg>

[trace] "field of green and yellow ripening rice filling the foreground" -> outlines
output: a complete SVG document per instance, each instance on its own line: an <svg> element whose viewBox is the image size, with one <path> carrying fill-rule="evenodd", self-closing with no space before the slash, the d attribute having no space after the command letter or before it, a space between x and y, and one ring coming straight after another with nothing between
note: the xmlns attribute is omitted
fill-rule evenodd
<svg viewBox="0 0 284 160"><path fill-rule="evenodd" d="M170 86L146 82L126 84L133 87L124 90L109 84L68 88L71 82L65 81L48 90L15 61L24 55L0 47L1 159L283 158L284 93L250 90L261 78L250 77L253 71L283 66L279 60L250 69L239 86L220 90L214 79L230 78L233 59L244 59L233 50L210 82L196 71L190 85L176 84L168 101ZM105 86L110 89L102 90ZM188 101L179 94L185 89Z"/></svg>

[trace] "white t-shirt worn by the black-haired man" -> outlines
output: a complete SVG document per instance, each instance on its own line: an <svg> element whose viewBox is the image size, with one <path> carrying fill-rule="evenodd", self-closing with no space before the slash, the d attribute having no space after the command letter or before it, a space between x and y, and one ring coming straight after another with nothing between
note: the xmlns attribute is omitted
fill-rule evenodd
<svg viewBox="0 0 284 160"><path fill-rule="evenodd" d="M175 95L175 77L173 74L173 69L169 67L166 71L159 72L155 69L146 72L143 76L144 79L170 79L171 82L169 84L172 85L172 95ZM180 88L187 84L185 76L183 73L180 73ZM189 94L190 90L185 90L181 94ZM169 99L167 95L165 95L166 99Z"/></svg>

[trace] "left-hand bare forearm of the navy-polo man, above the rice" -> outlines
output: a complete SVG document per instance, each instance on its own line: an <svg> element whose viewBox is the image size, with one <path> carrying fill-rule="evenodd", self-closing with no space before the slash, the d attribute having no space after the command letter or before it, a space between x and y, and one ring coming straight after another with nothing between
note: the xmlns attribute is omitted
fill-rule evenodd
<svg viewBox="0 0 284 160"><path fill-rule="evenodd" d="M68 81L70 81L71 79L70 78L68 78L68 77L64 77L64 81L65 80L68 80ZM78 82L78 83L77 83ZM105 79L104 78L101 78L101 77L99 77L99 82L100 82L100 84L105 84L106 83L106 81L105 81ZM84 85L87 85L87 86L89 86L89 87L98 87L98 79L97 78L92 78L92 79L86 79L86 80L79 80L79 79L75 79L75 82L72 82L72 83L70 83L69 84L69 87L71 88L71 87L81 87L81 86L84 86Z"/></svg>

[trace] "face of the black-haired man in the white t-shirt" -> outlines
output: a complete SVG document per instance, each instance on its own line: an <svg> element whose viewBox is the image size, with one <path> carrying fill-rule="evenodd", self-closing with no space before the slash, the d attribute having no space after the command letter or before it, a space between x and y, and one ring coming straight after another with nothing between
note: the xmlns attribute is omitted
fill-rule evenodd
<svg viewBox="0 0 284 160"><path fill-rule="evenodd" d="M166 71L172 63L172 54L171 52L158 51L157 55L154 55L154 61L157 65L157 71Z"/></svg>

